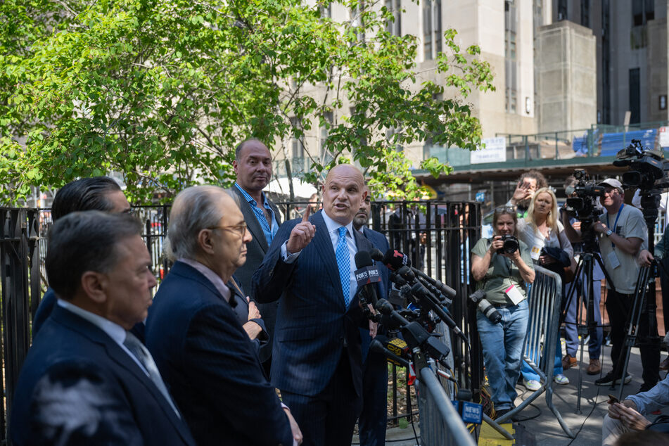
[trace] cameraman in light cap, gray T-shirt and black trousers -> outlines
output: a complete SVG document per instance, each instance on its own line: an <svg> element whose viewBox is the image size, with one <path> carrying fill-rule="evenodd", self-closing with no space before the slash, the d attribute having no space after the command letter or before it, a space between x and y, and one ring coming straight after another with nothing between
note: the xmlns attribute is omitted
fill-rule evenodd
<svg viewBox="0 0 669 446"><path fill-rule="evenodd" d="M609 276L615 277L615 287L609 289L606 298L606 311L611 323L611 361L613 370L604 378L595 381L598 386L610 386L613 381L618 383L622 375L622 367L618 367L620 352L623 350L627 318L632 314L635 300L635 287L639 274L637 257L640 250L647 248L648 229L644 216L634 206L623 203L623 185L617 179L609 178L599 183L604 186L604 196L599 198L606 212L599 216L594 224L594 231L599 234L599 248L604 261L604 268ZM651 389L659 381L660 350L659 345L647 344L643 340L648 334L648 319L642 317L637 327L637 336L642 340L639 345L644 383L641 392ZM625 376L625 383L631 377Z"/></svg>

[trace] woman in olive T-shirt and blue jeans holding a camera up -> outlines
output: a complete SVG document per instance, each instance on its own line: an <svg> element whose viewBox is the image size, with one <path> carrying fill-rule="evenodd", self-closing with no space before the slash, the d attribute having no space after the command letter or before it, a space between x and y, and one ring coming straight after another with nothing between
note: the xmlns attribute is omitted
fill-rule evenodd
<svg viewBox="0 0 669 446"><path fill-rule="evenodd" d="M529 314L525 283L532 283L535 277L528 246L516 239L514 249L514 239L509 240L509 236L517 236L517 224L513 208L497 208L492 215L494 236L481 238L471 250L471 273L477 288L485 291L487 300L502 316L493 322L480 310L476 312L483 364L497 417L514 407L518 395L516 381Z"/></svg>

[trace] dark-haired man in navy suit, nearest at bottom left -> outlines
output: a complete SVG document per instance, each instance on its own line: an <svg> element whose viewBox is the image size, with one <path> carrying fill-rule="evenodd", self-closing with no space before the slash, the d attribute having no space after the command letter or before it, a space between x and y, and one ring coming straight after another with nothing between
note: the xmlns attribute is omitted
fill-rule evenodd
<svg viewBox="0 0 669 446"><path fill-rule="evenodd" d="M74 212L49 231L58 302L23 364L14 445L195 445L148 350L129 329L151 305L151 257L129 215Z"/></svg>

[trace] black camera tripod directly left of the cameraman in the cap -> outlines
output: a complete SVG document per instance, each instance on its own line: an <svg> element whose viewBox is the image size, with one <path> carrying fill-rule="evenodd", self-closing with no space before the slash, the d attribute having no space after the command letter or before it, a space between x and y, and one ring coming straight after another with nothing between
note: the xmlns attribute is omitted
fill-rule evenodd
<svg viewBox="0 0 669 446"><path fill-rule="evenodd" d="M590 222L592 226L592 222ZM597 265L601 268L601 271L604 272L606 276L607 283L610 283L613 286L613 281L611 277L604 269L604 264L601 262L601 257L598 253L595 253L597 247L597 241L594 238L593 234L588 234L585 238L585 248L581 253L578 259L578 265L576 266L576 272L574 275L574 281L570 284L567 295L569 296L564 310L561 315L561 322L565 321L567 312L573 299L576 299L576 318L574 324L576 324L580 348L580 358L579 364L583 364L583 350L585 350L585 338L588 333L597 329L597 321L594 319L594 284L593 284L593 269L594 264L597 262ZM578 290L579 282L582 283L582 293L579 293ZM599 284L601 286L601 283ZM583 305L581 305L581 303ZM585 306L585 325L581 324L582 320L582 307ZM600 321L601 324L601 321ZM592 335L591 335L592 336ZM582 385L583 385L583 376L581 367L578 368L578 388L577 388L577 397L576 397L576 414L581 414L581 394L582 394Z"/></svg>

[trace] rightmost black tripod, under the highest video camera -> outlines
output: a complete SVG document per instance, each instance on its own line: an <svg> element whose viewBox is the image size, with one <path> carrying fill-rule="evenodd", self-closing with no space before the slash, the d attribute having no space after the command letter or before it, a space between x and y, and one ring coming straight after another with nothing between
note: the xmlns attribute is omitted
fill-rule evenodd
<svg viewBox="0 0 669 446"><path fill-rule="evenodd" d="M659 204L660 191L658 189L642 189L641 205L644 220L646 221L646 227L648 229L648 250L651 253L654 252L655 248L655 222L658 217ZM625 376L627 376L627 364L630 361L630 351L637 342L637 337L641 338L640 340L642 341L639 343L639 348L646 350L642 356L644 375L655 374L656 378L659 380L660 337L658 336L657 331L657 305L655 303L655 279L659 276L658 265L659 262L655 261L651 267L641 267L637 276L632 312L627 319L625 328L623 350L620 351L618 364L616 365L616 370L614 370L615 374L613 375L621 377L620 390L618 391L618 400L621 401L623 400L623 388L625 387ZM611 286L611 288L613 288L613 286ZM644 326L647 327L647 332L644 335L639 335L639 322L641 321L642 316L648 319L648 323L644 324ZM651 364L644 362L644 356L649 359ZM649 370L646 370L646 367L648 367ZM621 368L622 371L620 372ZM614 379L611 382L610 389L613 390L615 388L616 380Z"/></svg>

